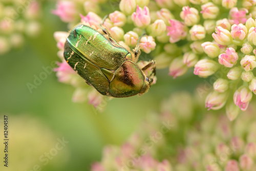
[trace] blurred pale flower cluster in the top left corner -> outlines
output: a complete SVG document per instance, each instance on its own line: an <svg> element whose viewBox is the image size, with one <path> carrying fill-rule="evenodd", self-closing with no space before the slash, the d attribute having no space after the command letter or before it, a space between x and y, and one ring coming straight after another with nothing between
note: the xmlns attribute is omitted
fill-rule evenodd
<svg viewBox="0 0 256 171"><path fill-rule="evenodd" d="M40 32L41 5L37 1L0 2L0 55L24 44L25 36Z"/></svg>

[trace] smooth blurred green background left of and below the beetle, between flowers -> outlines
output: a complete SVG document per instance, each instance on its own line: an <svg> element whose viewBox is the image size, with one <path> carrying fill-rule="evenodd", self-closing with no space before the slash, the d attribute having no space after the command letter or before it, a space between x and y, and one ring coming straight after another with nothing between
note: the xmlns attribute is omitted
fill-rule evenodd
<svg viewBox="0 0 256 171"><path fill-rule="evenodd" d="M47 165L42 170L89 170L93 162L100 160L104 145L121 144L137 129L148 113L159 111L164 98L179 90L194 92L202 79L194 76L193 71L173 79L168 76L167 69L157 70L157 84L148 93L112 99L102 113L95 113L88 103L73 103L74 88L58 82L55 72L42 80L30 93L27 83L33 84L34 75L39 76L44 72L42 67L51 66L52 61L59 61L53 33L67 31L67 25L51 14L50 11L54 8L55 2L44 3L43 17L40 20L42 29L38 37L26 37L23 48L0 56L0 119L3 119L3 115L8 115L11 127L15 126L11 123L12 117L29 114L31 118L41 120L59 137L63 136L69 141L68 162L61 163L59 168ZM2 134L3 129L0 130ZM2 151L2 146L0 150ZM10 153L14 155L18 152L12 152L10 146ZM17 162L12 161L11 156L9 160L10 165Z"/></svg>

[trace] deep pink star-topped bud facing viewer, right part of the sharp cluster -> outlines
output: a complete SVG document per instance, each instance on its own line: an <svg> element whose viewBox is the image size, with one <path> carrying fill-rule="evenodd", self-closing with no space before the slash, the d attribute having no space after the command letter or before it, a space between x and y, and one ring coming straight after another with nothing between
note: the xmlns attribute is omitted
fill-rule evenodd
<svg viewBox="0 0 256 171"><path fill-rule="evenodd" d="M226 53L219 55L219 63L225 67L232 68L236 65L238 53L233 48L227 48Z"/></svg>

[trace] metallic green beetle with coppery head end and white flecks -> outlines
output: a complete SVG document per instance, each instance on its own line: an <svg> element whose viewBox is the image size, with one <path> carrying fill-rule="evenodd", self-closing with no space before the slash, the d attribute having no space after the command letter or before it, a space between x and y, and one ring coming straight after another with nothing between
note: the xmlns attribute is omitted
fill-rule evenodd
<svg viewBox="0 0 256 171"><path fill-rule="evenodd" d="M86 25L71 30L64 51L66 61L90 86L112 97L143 94L151 87L153 79L144 71L150 67L155 71L155 61L141 69L136 64L139 54L139 46L130 51L106 29L97 31Z"/></svg>

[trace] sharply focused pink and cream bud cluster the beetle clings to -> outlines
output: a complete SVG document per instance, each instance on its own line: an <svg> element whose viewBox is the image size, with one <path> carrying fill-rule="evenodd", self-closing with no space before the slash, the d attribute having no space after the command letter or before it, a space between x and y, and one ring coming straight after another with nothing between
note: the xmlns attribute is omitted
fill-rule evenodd
<svg viewBox="0 0 256 171"><path fill-rule="evenodd" d="M103 16L97 13L106 1L79 3L59 1L53 13L70 27L80 20L98 28ZM81 5L83 11L78 8ZM199 77L210 76L213 90L204 91L208 94L206 108L219 110L227 104L226 114L236 111L229 116L235 119L238 108L245 111L256 92L255 5L254 0L121 0L119 10L112 11L103 25L131 48L146 33L139 42L140 49L147 54L153 51L157 69L169 67L173 78L191 71L189 68ZM61 39L58 47L64 42Z"/></svg>

